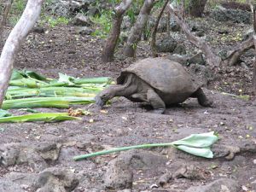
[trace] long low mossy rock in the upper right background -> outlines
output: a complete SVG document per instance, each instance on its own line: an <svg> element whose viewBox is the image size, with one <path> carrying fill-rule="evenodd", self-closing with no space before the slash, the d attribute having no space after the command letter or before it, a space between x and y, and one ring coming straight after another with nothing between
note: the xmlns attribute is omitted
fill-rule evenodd
<svg viewBox="0 0 256 192"><path fill-rule="evenodd" d="M252 15L250 12L243 11L240 9L224 9L219 6L218 9L214 9L211 13L212 18L218 21L228 21L233 23L252 23Z"/></svg>

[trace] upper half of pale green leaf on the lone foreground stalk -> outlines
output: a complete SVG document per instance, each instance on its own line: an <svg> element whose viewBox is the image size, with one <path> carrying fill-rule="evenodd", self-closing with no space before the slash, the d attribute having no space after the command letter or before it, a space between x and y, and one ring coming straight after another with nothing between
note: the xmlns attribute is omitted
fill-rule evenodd
<svg viewBox="0 0 256 192"><path fill-rule="evenodd" d="M185 145L188 147L194 148L208 148L213 143L217 142L218 137L214 135L214 132L207 132L201 134L192 134L189 137L185 137L181 140L173 142L172 144L177 145Z"/></svg>

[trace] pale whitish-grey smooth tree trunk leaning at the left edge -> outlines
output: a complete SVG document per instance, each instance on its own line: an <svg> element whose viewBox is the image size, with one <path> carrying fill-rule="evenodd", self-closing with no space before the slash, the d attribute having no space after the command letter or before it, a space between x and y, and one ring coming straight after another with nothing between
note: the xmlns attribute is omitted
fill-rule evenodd
<svg viewBox="0 0 256 192"><path fill-rule="evenodd" d="M3 46L0 57L0 108L9 85L15 56L20 48L20 44L38 20L43 2L44 0L28 0L26 9Z"/></svg>

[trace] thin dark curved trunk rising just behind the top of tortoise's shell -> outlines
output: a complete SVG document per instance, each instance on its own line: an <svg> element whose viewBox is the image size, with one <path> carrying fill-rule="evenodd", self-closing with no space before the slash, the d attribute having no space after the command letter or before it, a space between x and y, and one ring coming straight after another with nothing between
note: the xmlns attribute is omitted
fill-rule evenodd
<svg viewBox="0 0 256 192"><path fill-rule="evenodd" d="M156 51L156 48L155 48L155 39L156 39L157 28L159 26L160 19L161 19L162 15L163 15L163 13L164 13L164 11L166 9L166 5L167 5L168 2L169 2L169 0L166 0L164 6L160 10L160 14L158 15L157 20L156 20L155 25L154 25L154 31L152 32L152 39L151 39L150 46L151 46L151 51L152 51L152 56L153 57L157 57L157 51ZM169 27L170 27L170 20L167 20L167 22L169 23ZM167 24L167 26L168 26L168 24ZM168 30L170 30L170 28L167 29L167 32L168 32Z"/></svg>

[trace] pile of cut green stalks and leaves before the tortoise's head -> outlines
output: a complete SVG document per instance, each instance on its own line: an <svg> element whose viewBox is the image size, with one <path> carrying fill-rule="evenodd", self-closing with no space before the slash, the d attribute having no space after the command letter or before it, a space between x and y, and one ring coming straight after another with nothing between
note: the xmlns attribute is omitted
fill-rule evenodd
<svg viewBox="0 0 256 192"><path fill-rule="evenodd" d="M59 76L49 79L31 71L14 71L2 108L70 108L73 104L88 104L112 82L108 77Z"/></svg>

